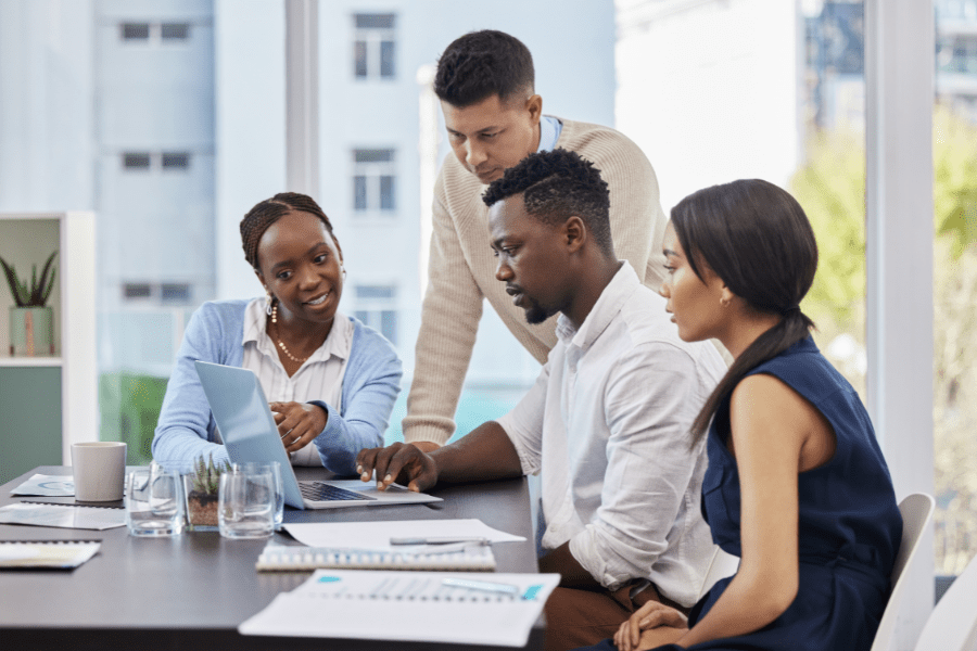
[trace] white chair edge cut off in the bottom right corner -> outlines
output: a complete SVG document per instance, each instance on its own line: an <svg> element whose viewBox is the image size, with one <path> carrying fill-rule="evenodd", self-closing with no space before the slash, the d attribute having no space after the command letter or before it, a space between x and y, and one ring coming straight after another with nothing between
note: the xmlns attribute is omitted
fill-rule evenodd
<svg viewBox="0 0 977 651"><path fill-rule="evenodd" d="M923 627L916 651L977 651L977 557L957 576Z"/></svg>

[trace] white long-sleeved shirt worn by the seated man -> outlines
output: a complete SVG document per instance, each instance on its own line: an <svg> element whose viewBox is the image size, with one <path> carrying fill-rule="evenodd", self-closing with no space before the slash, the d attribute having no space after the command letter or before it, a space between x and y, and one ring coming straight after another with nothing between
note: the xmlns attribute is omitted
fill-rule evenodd
<svg viewBox="0 0 977 651"><path fill-rule="evenodd" d="M544 548L569 540L606 588L648 579L691 605L713 546L705 437L689 449L689 429L726 369L664 307L624 261L579 330L560 316L535 385L498 422L523 471L542 472Z"/></svg>

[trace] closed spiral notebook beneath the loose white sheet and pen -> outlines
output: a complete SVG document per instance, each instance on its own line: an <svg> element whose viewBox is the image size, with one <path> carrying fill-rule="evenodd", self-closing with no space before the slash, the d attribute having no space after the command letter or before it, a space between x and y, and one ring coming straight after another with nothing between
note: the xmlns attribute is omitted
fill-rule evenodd
<svg viewBox="0 0 977 651"><path fill-rule="evenodd" d="M487 545L452 546L423 551L377 551L332 547L297 547L268 544L258 557L258 572L347 570L455 570L493 572L495 556Z"/></svg>

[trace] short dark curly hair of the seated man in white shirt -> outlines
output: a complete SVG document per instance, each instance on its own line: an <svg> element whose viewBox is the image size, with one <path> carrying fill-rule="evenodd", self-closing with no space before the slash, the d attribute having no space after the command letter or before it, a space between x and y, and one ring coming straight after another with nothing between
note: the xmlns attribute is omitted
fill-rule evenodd
<svg viewBox="0 0 977 651"><path fill-rule="evenodd" d="M612 255L610 191L600 170L576 152L555 149L530 154L492 181L482 195L485 205L522 193L525 212L544 224L558 225L576 215L600 250Z"/></svg>

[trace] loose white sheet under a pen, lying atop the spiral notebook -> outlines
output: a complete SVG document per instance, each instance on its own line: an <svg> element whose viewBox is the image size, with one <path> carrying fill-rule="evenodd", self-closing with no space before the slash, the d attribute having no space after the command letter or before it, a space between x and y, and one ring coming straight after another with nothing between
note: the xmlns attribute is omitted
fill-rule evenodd
<svg viewBox="0 0 977 651"><path fill-rule="evenodd" d="M380 522L315 522L282 525L296 540L309 547L368 549L371 551L416 551L417 546L391 545L391 538L485 538L490 542L522 542L492 528L481 520L392 520Z"/></svg>

